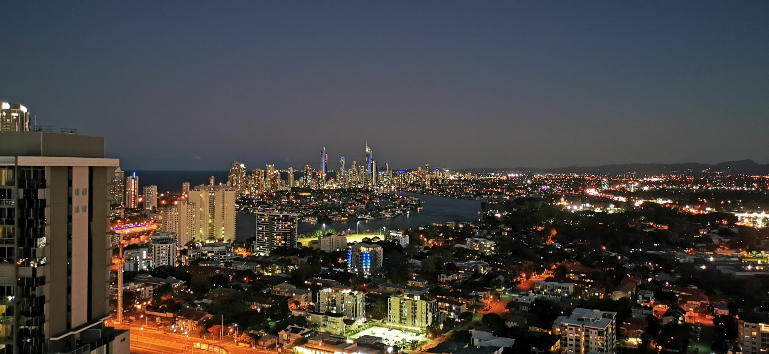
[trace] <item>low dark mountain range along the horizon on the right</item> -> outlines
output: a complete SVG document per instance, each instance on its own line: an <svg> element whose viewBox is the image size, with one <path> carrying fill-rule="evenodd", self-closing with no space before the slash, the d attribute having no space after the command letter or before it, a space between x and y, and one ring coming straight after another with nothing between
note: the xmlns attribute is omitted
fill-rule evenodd
<svg viewBox="0 0 769 354"><path fill-rule="evenodd" d="M757 164L754 160L727 161L718 164L607 164L601 166L568 166L555 168L505 167L467 168L474 173L531 173L531 174L671 174L674 172L724 172L728 174L769 175L769 164Z"/></svg>

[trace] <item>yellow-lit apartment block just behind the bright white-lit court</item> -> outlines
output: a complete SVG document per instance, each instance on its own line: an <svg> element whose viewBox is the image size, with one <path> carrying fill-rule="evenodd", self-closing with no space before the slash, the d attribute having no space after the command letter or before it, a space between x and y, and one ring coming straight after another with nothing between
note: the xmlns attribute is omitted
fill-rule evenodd
<svg viewBox="0 0 769 354"><path fill-rule="evenodd" d="M402 293L388 299L388 325L412 331L424 331L439 324L438 300L418 293Z"/></svg>

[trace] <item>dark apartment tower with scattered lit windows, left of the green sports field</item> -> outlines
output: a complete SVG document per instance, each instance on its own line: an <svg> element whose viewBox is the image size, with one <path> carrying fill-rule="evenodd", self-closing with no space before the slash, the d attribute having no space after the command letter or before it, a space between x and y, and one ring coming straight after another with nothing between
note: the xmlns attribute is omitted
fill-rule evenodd
<svg viewBox="0 0 769 354"><path fill-rule="evenodd" d="M299 215L265 211L256 214L254 252L269 255L278 247L296 248Z"/></svg>

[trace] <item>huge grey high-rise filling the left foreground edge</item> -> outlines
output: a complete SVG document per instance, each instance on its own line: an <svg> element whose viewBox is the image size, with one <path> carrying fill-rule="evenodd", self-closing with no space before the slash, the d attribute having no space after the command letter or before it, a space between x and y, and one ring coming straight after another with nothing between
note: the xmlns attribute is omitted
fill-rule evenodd
<svg viewBox="0 0 769 354"><path fill-rule="evenodd" d="M0 132L0 343L5 353L128 352L109 316L104 139Z"/></svg>

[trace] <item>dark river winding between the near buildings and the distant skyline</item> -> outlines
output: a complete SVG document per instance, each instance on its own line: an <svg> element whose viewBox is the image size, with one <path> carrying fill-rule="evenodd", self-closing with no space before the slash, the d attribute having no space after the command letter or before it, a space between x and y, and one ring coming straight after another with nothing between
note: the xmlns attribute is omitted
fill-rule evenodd
<svg viewBox="0 0 769 354"><path fill-rule="evenodd" d="M478 220L478 213L481 211L481 200L464 200L411 193L406 195L418 197L421 201L422 210L388 219L326 223L326 230L344 230L346 232L348 229L355 231L358 227L361 233L367 230L376 232L381 227L388 230L402 230L445 221ZM322 227L322 223L299 223L299 233L311 233L315 230L321 230ZM235 236L238 241L254 237L255 233L256 216L252 213L238 213L235 225Z"/></svg>

